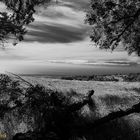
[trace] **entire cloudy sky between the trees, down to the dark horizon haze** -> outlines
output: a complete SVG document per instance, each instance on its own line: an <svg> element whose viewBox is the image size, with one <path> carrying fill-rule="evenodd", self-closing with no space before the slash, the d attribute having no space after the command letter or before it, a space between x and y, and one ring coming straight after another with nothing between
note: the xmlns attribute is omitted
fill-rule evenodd
<svg viewBox="0 0 140 140"><path fill-rule="evenodd" d="M88 4L87 0L58 0L49 7L37 7L25 40L0 48L0 72L28 74L62 66L69 70L76 65L139 65L140 58L135 55L128 56L122 49L100 50L90 41L91 27L85 24ZM6 10L2 3L0 9Z"/></svg>

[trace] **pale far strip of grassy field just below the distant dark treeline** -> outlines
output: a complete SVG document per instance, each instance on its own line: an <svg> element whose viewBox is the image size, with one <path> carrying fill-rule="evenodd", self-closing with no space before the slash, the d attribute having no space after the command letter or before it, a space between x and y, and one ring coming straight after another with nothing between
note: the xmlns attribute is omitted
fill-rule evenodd
<svg viewBox="0 0 140 140"><path fill-rule="evenodd" d="M78 80L61 80L49 78L24 77L31 83L39 83L51 89L62 91L76 90L78 93L85 94L94 89L95 95L123 95L137 93L133 90L140 87L140 82L101 82L101 81L78 81Z"/></svg>

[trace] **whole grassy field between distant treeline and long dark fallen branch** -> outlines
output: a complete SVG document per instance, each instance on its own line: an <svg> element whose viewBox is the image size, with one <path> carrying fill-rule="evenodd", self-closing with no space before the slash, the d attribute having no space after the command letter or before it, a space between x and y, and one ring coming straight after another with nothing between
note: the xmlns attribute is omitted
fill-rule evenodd
<svg viewBox="0 0 140 140"><path fill-rule="evenodd" d="M95 91L92 97L95 106L85 106L82 110L83 116L95 119L107 115L112 111L127 109L139 102L140 82L100 82L100 81L77 81L49 79L39 77L24 77L27 81L34 84L41 84L46 88L62 91L65 94L76 94L73 99L87 95L88 91Z"/></svg>

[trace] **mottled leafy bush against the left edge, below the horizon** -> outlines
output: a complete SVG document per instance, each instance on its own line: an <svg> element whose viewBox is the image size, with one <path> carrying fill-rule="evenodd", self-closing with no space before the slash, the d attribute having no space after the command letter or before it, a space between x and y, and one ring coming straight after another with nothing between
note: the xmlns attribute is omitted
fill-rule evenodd
<svg viewBox="0 0 140 140"><path fill-rule="evenodd" d="M0 75L0 117L3 117L5 112L21 105L20 95L22 93L19 81L13 81L4 74Z"/></svg>

